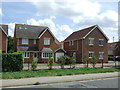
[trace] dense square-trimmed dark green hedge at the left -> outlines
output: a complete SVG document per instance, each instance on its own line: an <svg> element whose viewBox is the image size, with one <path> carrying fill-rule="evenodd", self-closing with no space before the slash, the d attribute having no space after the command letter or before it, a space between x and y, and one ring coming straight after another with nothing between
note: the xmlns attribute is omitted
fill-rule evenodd
<svg viewBox="0 0 120 90"><path fill-rule="evenodd" d="M2 53L2 71L13 72L23 69L23 54L22 53Z"/></svg>

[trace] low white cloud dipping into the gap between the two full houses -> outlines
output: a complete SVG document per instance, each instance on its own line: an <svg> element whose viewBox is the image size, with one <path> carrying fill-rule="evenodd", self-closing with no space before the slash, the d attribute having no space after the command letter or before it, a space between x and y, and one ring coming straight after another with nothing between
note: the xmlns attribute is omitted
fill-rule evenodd
<svg viewBox="0 0 120 90"><path fill-rule="evenodd" d="M70 35L73 32L69 25L55 24L55 22L53 22L50 18L42 20L35 20L32 18L27 20L27 24L48 26L59 41L63 41L68 35Z"/></svg>

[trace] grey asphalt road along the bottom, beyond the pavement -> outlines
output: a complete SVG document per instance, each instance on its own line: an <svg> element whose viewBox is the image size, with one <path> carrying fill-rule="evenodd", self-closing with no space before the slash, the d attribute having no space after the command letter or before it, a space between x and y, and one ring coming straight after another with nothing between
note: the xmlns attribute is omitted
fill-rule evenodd
<svg viewBox="0 0 120 90"><path fill-rule="evenodd" d="M11 88L118 88L119 86L118 81L120 81L120 78L106 78L106 79L97 79L97 80L88 80L88 81L19 86L19 87L11 87Z"/></svg>

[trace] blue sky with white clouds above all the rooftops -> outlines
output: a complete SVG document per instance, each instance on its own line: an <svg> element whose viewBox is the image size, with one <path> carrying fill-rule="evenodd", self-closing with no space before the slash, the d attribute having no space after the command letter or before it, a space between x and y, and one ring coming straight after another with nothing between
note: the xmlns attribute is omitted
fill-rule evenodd
<svg viewBox="0 0 120 90"><path fill-rule="evenodd" d="M16 24L48 26L63 41L72 32L98 25L109 42L118 41L117 0L2 0L0 23L9 25L14 35Z"/></svg>

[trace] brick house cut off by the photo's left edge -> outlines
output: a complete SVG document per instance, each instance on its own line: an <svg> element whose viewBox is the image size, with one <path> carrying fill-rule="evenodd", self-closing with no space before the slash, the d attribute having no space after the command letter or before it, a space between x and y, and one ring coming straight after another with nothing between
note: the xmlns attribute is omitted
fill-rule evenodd
<svg viewBox="0 0 120 90"><path fill-rule="evenodd" d="M0 24L0 53L7 53L8 25Z"/></svg>

